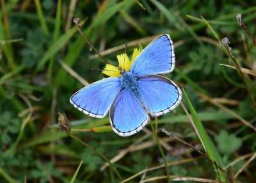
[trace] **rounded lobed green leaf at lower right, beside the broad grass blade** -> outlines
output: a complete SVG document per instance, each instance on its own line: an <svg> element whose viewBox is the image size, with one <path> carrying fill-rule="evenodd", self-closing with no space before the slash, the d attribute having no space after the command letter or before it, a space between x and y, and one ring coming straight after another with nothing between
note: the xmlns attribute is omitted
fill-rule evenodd
<svg viewBox="0 0 256 183"><path fill-rule="evenodd" d="M218 143L218 149L223 154L231 154L238 150L242 145L242 140L237 138L234 134L228 134L227 131L221 131L218 136L215 137L216 143Z"/></svg>

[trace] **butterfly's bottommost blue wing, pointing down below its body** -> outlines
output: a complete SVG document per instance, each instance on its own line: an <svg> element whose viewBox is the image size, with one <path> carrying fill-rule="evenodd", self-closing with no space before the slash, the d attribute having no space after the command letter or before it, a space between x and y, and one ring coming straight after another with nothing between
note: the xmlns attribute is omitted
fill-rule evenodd
<svg viewBox="0 0 256 183"><path fill-rule="evenodd" d="M109 120L116 134L131 136L141 131L150 118L134 95L122 89L110 108Z"/></svg>

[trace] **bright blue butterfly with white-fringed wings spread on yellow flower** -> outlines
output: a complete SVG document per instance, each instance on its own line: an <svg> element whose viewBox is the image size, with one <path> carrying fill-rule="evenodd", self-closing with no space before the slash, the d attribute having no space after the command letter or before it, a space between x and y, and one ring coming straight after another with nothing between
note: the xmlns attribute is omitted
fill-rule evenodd
<svg viewBox="0 0 256 183"><path fill-rule="evenodd" d="M119 136L131 136L143 129L150 116L164 115L179 105L182 99L179 86L157 75L172 72L174 67L173 42L170 35L161 35L128 67L119 64L116 76L85 86L72 95L70 102L95 118L104 118L109 111L113 131Z"/></svg>

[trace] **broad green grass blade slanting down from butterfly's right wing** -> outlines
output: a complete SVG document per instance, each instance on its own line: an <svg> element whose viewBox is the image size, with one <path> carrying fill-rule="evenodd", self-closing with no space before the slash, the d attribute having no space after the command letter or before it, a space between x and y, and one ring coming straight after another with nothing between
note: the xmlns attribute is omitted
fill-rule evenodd
<svg viewBox="0 0 256 183"><path fill-rule="evenodd" d="M220 164L221 167L223 167L224 164L223 164L223 161L221 159L221 155L218 152L218 149L214 146L214 143L212 142L211 138L209 138L209 136L205 132L204 126L202 125L202 122L201 122L199 116L197 115L193 105L189 101L188 96L186 95L186 92L185 92L184 88L182 89L182 91L183 91L184 97L185 97L185 99L188 103L189 111L190 111L191 116L192 116L192 118L195 122L196 129L198 130L198 133L201 137L199 139L202 139L201 143L203 143L207 155L210 157L210 159L212 159L212 161L216 161L218 164ZM214 166L214 169L216 170L216 166L214 164L212 164L212 165ZM226 176L222 171L220 171L220 179L221 179L222 182L227 181Z"/></svg>

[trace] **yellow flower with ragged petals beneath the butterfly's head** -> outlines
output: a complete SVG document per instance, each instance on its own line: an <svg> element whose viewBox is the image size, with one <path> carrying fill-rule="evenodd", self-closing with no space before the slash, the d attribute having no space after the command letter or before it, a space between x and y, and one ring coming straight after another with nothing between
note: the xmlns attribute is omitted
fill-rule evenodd
<svg viewBox="0 0 256 183"><path fill-rule="evenodd" d="M130 61L127 54L118 54L117 60L118 60L118 67L115 67L113 65L107 64L102 71L103 74L106 74L109 77L120 77L120 70L127 70L129 71L132 62L135 60L135 58L140 54L141 50L140 49L134 49L133 54L132 54L132 60Z"/></svg>

